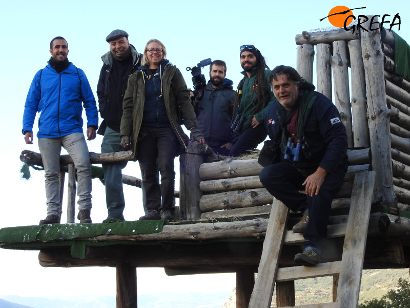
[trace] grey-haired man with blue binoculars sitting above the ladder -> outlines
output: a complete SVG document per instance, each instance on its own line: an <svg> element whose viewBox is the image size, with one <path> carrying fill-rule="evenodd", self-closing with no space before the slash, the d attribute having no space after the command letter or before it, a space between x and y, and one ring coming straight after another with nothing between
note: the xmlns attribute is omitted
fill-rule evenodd
<svg viewBox="0 0 410 308"><path fill-rule="evenodd" d="M280 154L259 177L276 199L303 214L293 232L307 242L295 262L312 266L321 262L332 201L347 171L346 129L335 105L294 68L275 67L269 81L276 101L264 124Z"/></svg>

